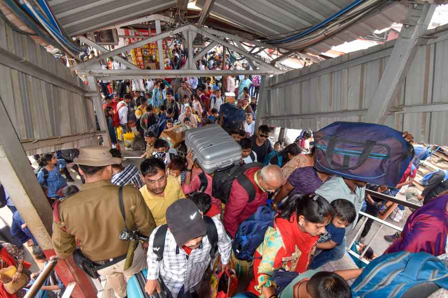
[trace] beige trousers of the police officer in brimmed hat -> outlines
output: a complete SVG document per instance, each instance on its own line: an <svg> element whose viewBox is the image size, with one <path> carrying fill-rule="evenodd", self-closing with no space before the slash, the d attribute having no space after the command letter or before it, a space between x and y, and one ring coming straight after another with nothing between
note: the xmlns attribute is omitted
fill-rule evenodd
<svg viewBox="0 0 448 298"><path fill-rule="evenodd" d="M135 252L134 260L128 270L123 270L126 260L122 260L114 265L98 270L98 274L105 276L109 285L114 289L118 298L127 296L128 280L134 273L137 273L147 266L146 254L139 243Z"/></svg>

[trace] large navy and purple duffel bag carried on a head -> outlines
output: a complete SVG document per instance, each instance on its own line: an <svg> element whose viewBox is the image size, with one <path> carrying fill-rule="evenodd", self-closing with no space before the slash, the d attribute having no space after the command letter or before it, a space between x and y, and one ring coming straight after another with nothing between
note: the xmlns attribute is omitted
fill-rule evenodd
<svg viewBox="0 0 448 298"><path fill-rule="evenodd" d="M318 171L395 187L409 166L413 146L385 125L334 122L316 132Z"/></svg>

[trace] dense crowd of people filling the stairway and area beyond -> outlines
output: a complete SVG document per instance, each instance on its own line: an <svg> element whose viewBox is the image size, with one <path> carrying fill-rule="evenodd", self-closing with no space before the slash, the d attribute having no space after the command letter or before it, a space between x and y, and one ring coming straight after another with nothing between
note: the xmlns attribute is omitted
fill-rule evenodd
<svg viewBox="0 0 448 298"><path fill-rule="evenodd" d="M176 53L179 57L173 68L182 67L185 60L180 49ZM236 64L231 55L223 59L211 52L197 67L232 69ZM173 298L199 297L197 290L210 266L216 263L227 271L244 262L233 244L241 236L240 227L264 206L272 212L272 225L263 231L251 254L251 272L243 277L249 282L239 296L352 297L346 280L358 277L362 269L326 272L322 266L344 256L347 235L359 221L360 211L378 216L384 202L366 195L366 188L395 196L413 183L419 161L425 158L416 154L394 188L318 171L313 131L302 130L286 145L271 143L272 127L255 127L258 75L147 80L143 90L137 87L140 83L122 81L114 83L117 88L112 93L106 83L100 82L112 146L87 146L34 158L39 165L36 178L54 208L52 242L57 256L82 258L93 271L89 275L104 276L117 297L132 297L127 280L143 269L147 269L147 281L142 290L148 294L165 290ZM214 184L215 173L201 169L185 141L172 146L161 137L179 124L186 129L211 124L225 129L241 146L239 166L254 192L235 179L228 199L217 198L215 191L221 186ZM141 141L135 149L141 150L138 167L124 163L119 135L127 132L134 133L135 143ZM403 136L412 142L411 134ZM69 167L79 175L81 185L72 184ZM386 241L393 244L386 253L447 253L445 173L434 173L428 180L421 195L407 191L409 201L424 206L408 218L402 233L388 235ZM8 198L6 190L5 194ZM16 237L34 246L36 259L45 262L14 204L7 206L14 212ZM367 220L354 247L359 254L367 249L364 242L371 225ZM20 253L8 243L2 245L2 258L8 254L5 258L20 276L0 282L6 287L24 274L31 279ZM376 257L365 253L369 260ZM357 264L362 267L363 263ZM48 286L43 290L63 287L60 282Z"/></svg>

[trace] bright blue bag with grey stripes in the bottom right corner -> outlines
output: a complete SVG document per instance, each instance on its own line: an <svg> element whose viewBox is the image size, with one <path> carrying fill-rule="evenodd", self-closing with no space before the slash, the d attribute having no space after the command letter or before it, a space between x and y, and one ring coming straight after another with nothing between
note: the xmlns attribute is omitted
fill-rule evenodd
<svg viewBox="0 0 448 298"><path fill-rule="evenodd" d="M353 297L420 298L448 287L444 260L426 253L400 251L377 257L352 284Z"/></svg>

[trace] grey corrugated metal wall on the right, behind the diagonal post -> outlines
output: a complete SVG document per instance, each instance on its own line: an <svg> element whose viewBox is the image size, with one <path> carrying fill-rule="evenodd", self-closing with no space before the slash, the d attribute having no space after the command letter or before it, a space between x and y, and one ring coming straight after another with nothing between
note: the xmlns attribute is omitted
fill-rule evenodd
<svg viewBox="0 0 448 298"><path fill-rule="evenodd" d="M430 105L433 111L405 109L390 115L386 125L408 130L418 141L446 144L448 111L445 105L433 104L448 103L448 27L439 28L433 37L419 46L395 99L398 108ZM316 130L334 121L363 121L393 46L394 41L388 42L271 77L262 122Z"/></svg>

